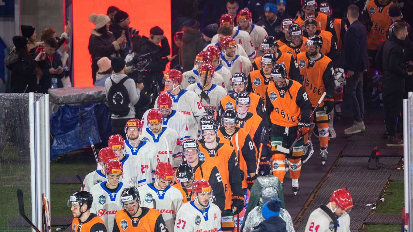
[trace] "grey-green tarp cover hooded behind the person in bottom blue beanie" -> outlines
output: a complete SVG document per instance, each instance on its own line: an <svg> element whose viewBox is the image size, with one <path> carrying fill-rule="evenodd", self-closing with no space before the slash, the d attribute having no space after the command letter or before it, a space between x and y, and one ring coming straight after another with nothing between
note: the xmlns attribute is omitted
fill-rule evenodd
<svg viewBox="0 0 413 232"><path fill-rule="evenodd" d="M275 176L262 176L255 180L254 185L251 188L251 195L249 196L249 202L247 209L245 210L244 218L247 218L248 213L259 205L259 196L262 191L267 187L273 187L278 192L278 198L282 201L281 208L285 208L284 194L282 192L282 186L280 180ZM245 226L245 220L242 222L241 231Z"/></svg>

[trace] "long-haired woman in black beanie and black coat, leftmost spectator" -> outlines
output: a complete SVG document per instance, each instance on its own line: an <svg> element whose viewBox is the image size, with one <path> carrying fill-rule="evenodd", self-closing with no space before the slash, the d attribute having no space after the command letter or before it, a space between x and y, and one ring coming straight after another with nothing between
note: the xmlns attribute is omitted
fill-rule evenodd
<svg viewBox="0 0 413 232"><path fill-rule="evenodd" d="M12 71L11 92L40 92L39 80L43 73L40 67L43 67L46 53L40 52L35 59L31 57L30 40L25 36L14 36L13 44L15 52L5 59L5 64Z"/></svg>

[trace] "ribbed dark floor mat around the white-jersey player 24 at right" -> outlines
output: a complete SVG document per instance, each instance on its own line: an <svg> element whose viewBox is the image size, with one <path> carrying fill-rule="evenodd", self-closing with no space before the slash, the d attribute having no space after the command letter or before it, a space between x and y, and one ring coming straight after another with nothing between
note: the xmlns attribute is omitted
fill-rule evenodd
<svg viewBox="0 0 413 232"><path fill-rule="evenodd" d="M396 166L399 160L399 157L382 157L380 162ZM334 190L347 185L354 203L354 207L350 212L350 230L352 232L357 231L363 225L364 219L371 209L371 207L365 205L374 203L377 200L392 173L393 170L388 168L368 170L367 160L362 161L360 157L341 157L335 168L328 175L327 180L316 193L309 208L298 219L295 230L304 231L310 213L320 205L327 204Z"/></svg>

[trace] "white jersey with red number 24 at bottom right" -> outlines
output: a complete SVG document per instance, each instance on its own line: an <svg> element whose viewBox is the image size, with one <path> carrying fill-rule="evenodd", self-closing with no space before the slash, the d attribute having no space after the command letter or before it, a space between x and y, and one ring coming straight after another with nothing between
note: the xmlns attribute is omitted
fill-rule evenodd
<svg viewBox="0 0 413 232"><path fill-rule="evenodd" d="M350 215L344 213L341 217L337 218L337 232L350 232ZM318 232L331 232L334 231L334 223L331 218L321 208L316 208L307 221L306 229L304 232L318 231Z"/></svg>

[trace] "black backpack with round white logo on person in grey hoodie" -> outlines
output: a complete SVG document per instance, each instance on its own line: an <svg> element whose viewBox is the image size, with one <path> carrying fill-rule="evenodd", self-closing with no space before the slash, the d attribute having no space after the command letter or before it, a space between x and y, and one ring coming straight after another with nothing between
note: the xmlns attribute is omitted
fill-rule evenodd
<svg viewBox="0 0 413 232"><path fill-rule="evenodd" d="M109 89L107 95L107 101L109 104L109 111L112 117L123 117L129 114L130 111L130 100L129 93L126 90L125 81L129 79L127 76L124 77L119 83L115 83L111 77L112 86Z"/></svg>

